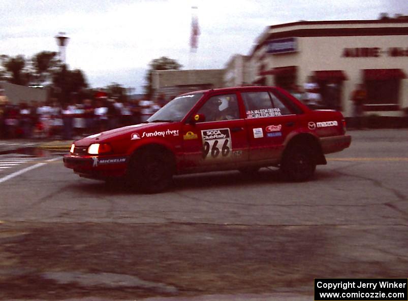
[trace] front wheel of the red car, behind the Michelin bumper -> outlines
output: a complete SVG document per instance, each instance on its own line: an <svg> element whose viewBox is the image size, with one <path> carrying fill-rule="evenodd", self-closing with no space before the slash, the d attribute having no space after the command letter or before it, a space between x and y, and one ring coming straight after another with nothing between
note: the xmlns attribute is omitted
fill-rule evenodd
<svg viewBox="0 0 408 301"><path fill-rule="evenodd" d="M156 151L134 155L128 171L129 182L146 193L161 192L173 183L174 166L171 158Z"/></svg>

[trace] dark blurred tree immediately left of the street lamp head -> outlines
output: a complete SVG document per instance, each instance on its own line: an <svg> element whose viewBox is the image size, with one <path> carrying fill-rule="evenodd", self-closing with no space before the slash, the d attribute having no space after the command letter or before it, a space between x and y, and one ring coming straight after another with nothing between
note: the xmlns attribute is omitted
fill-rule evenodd
<svg viewBox="0 0 408 301"><path fill-rule="evenodd" d="M60 68L60 61L55 51L42 51L35 54L31 59L33 77L38 84L51 82L52 74Z"/></svg>

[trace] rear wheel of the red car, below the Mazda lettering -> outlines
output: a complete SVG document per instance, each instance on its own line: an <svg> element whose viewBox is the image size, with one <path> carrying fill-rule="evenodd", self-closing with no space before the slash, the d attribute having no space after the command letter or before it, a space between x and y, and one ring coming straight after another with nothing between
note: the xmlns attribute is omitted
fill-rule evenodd
<svg viewBox="0 0 408 301"><path fill-rule="evenodd" d="M290 181L309 180L316 171L316 160L312 149L302 145L290 147L284 154L280 170Z"/></svg>

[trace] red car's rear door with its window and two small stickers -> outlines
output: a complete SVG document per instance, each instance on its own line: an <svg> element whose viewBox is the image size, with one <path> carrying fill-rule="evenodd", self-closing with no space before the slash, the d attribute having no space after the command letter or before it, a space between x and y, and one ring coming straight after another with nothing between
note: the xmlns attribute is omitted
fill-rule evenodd
<svg viewBox="0 0 408 301"><path fill-rule="evenodd" d="M241 92L249 134L249 160L277 161L297 115L273 90Z"/></svg>

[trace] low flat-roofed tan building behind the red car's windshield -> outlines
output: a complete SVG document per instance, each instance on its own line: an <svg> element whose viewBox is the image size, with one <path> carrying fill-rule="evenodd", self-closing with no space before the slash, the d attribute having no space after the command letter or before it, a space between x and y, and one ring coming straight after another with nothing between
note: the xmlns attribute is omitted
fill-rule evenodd
<svg viewBox="0 0 408 301"><path fill-rule="evenodd" d="M223 87L224 69L160 70L152 72L153 99L165 99L182 93Z"/></svg>

